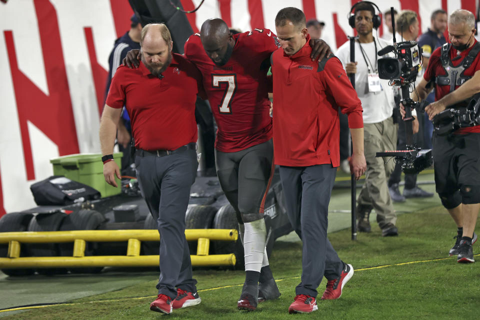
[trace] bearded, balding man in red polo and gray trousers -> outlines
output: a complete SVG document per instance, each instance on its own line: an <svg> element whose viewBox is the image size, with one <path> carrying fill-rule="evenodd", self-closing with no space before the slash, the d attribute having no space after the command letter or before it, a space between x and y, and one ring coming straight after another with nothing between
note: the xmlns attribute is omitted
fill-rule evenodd
<svg viewBox="0 0 480 320"><path fill-rule="evenodd" d="M118 166L110 159L123 105L130 115L138 182L161 236L158 298L150 310L163 313L200 303L184 232L198 166L195 100L201 76L191 62L171 53L172 43L164 24L143 27L141 63L116 70L100 122L103 173L116 186Z"/></svg>

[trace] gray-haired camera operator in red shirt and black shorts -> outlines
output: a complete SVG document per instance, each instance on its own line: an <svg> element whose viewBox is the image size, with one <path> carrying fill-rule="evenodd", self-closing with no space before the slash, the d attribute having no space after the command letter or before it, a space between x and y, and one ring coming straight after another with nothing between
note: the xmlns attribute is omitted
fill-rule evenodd
<svg viewBox="0 0 480 320"><path fill-rule="evenodd" d="M413 92L410 96L413 100L425 99L432 83L435 84L435 102L425 108L430 120L446 107L461 106L465 99L480 92L480 44L473 36L474 21L467 10L450 14L451 43L433 51L423 79L416 86L418 94ZM457 255L458 262L473 262L471 245L476 240L473 231L480 209L480 125L459 128L446 135L434 132L432 142L436 192L458 227L449 255Z"/></svg>

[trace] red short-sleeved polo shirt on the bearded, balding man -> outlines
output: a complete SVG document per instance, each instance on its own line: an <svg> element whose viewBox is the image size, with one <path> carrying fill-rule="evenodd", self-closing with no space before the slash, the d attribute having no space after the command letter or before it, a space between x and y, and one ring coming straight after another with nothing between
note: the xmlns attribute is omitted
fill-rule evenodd
<svg viewBox="0 0 480 320"><path fill-rule="evenodd" d="M137 149L174 150L197 140L195 100L201 75L185 57L172 55L161 79L140 62L136 69L119 66L111 80L106 104L125 105Z"/></svg>

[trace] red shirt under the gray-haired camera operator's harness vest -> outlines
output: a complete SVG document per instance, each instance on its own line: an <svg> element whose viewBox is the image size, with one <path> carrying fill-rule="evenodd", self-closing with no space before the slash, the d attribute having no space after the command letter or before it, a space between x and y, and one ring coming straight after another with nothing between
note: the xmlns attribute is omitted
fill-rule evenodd
<svg viewBox="0 0 480 320"><path fill-rule="evenodd" d="M476 41L473 43L473 45L476 44ZM448 52L450 55L450 60L453 66L458 66L463 58L470 52L471 48L473 47L470 46L468 49L463 50L457 54L457 51L453 48L450 47L450 51ZM431 54L430 61L428 62L428 67L425 70L425 73L423 74L423 78L426 81L434 80L436 75L444 75L445 71L443 70L443 67L441 66L441 60L440 60L440 55L441 55L441 47L436 48L435 51ZM470 66L465 69L463 74L465 75L473 75L476 71L480 70L480 54L477 54L473 62L470 64ZM455 89L458 88L458 85L455 86ZM435 101L441 99L443 96L447 95L450 92L450 85L438 85L435 84ZM459 128L453 131L453 133L461 134L461 133L468 133L468 132L480 132L480 125L475 125L475 126L469 126L465 128Z"/></svg>

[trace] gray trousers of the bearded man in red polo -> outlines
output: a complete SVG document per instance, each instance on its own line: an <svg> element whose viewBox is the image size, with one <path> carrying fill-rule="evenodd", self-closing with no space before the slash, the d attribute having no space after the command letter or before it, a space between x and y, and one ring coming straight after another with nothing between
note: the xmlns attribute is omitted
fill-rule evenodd
<svg viewBox="0 0 480 320"><path fill-rule="evenodd" d="M160 233L158 294L176 297L176 288L196 291L185 239L185 212L198 161L195 150L165 156L136 156L136 176Z"/></svg>

